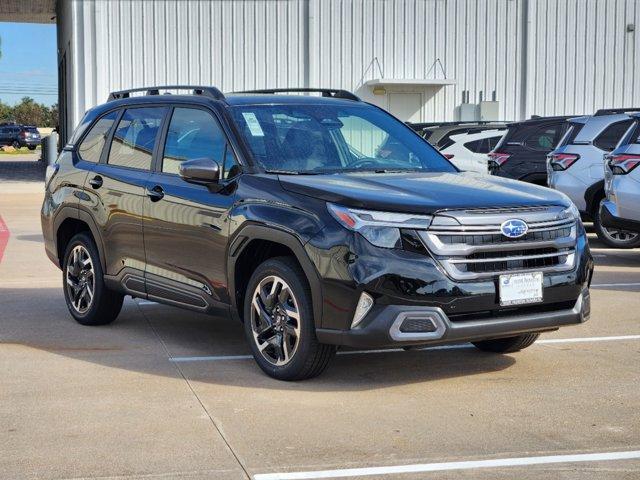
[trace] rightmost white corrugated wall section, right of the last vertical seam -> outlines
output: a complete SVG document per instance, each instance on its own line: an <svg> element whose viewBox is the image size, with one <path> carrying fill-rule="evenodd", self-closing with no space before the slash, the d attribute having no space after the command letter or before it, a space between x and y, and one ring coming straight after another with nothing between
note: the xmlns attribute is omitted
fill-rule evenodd
<svg viewBox="0 0 640 480"><path fill-rule="evenodd" d="M527 111L590 114L640 98L637 0L528 0ZM637 106L637 105L635 105Z"/></svg>

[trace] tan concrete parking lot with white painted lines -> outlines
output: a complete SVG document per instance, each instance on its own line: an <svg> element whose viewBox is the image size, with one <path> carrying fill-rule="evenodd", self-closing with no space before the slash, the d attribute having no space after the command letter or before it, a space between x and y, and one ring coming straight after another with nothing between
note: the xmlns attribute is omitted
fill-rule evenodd
<svg viewBox="0 0 640 480"><path fill-rule="evenodd" d="M640 476L640 250L592 237L591 320L526 351L345 351L283 383L224 318L127 299L76 324L22 161L0 159L1 478Z"/></svg>

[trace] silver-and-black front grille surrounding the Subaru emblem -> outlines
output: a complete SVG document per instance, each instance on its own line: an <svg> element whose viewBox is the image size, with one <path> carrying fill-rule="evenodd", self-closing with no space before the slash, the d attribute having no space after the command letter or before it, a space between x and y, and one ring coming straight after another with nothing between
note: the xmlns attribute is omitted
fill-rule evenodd
<svg viewBox="0 0 640 480"><path fill-rule="evenodd" d="M444 212L420 238L456 280L475 280L527 271L566 271L574 266L576 222L562 207ZM440 218L439 218L440 217ZM510 219L527 222L526 235L500 232Z"/></svg>

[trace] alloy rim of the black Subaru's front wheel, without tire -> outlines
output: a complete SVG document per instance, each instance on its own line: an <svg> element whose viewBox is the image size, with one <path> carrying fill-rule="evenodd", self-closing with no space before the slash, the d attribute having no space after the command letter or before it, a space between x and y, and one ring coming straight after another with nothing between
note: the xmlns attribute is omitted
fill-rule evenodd
<svg viewBox="0 0 640 480"><path fill-rule="evenodd" d="M272 365L291 361L300 343L300 310L289 285L280 277L262 279L251 301L251 330L261 355Z"/></svg>

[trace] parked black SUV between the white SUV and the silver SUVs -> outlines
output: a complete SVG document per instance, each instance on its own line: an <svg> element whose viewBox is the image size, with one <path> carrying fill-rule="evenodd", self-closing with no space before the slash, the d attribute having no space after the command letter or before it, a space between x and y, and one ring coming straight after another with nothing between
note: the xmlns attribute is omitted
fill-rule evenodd
<svg viewBox="0 0 640 480"><path fill-rule="evenodd" d="M534 117L510 123L489 153L489 172L504 178L547 186L547 155L568 128L571 117Z"/></svg>

